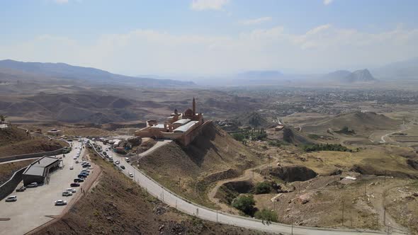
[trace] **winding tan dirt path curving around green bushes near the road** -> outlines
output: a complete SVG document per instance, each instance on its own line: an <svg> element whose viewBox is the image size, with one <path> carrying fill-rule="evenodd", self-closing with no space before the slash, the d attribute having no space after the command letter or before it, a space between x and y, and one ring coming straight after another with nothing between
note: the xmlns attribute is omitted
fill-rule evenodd
<svg viewBox="0 0 418 235"><path fill-rule="evenodd" d="M239 214L239 210L235 209L234 207L232 207L230 205L226 205L226 204L220 202L220 199L215 197L215 195L218 192L220 186L222 186L225 183L235 182L235 181L243 181L243 180L252 180L253 183L263 181L264 177L261 176L256 171L259 170L259 172L260 172L264 168L268 168L269 166L272 166L271 164L273 164L274 161L278 161L278 159L272 158L270 163L262 164L260 166L254 167L254 168L249 168L249 169L245 170L244 173L241 176L238 176L237 178L229 178L229 179L226 179L226 180L218 181L218 183L216 183L215 187L213 187L208 193L209 200L211 202L215 203L215 205L217 205L218 208L220 210L224 211L224 212L229 212L230 214Z"/></svg>

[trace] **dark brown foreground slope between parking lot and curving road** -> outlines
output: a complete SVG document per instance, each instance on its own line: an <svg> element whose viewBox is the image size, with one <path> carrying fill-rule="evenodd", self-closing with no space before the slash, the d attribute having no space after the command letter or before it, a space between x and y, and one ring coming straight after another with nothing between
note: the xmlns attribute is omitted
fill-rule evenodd
<svg viewBox="0 0 418 235"><path fill-rule="evenodd" d="M100 158L103 172L72 210L37 234L264 234L205 222L167 207Z"/></svg>

